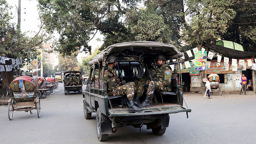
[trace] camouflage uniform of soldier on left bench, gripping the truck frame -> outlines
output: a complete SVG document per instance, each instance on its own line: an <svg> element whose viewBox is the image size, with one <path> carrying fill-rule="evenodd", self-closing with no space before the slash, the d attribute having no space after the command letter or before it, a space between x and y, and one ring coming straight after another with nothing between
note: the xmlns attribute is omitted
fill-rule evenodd
<svg viewBox="0 0 256 144"><path fill-rule="evenodd" d="M104 83L107 83L107 92L109 96L125 95L127 98L134 96L133 82L122 85L120 79L117 78L116 71L108 67L104 71Z"/></svg>

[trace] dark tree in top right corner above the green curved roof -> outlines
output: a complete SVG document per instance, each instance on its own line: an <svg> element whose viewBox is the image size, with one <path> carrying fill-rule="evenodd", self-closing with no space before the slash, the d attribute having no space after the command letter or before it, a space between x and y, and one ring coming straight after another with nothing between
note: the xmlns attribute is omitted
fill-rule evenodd
<svg viewBox="0 0 256 144"><path fill-rule="evenodd" d="M236 11L236 17L221 38L242 44L245 51L256 52L255 6L255 0L233 1L230 8Z"/></svg>

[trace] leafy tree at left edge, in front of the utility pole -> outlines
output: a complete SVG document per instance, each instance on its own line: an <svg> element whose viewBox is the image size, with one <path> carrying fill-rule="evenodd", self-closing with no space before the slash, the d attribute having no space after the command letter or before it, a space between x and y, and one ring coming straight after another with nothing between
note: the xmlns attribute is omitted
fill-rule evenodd
<svg viewBox="0 0 256 144"><path fill-rule="evenodd" d="M43 41L50 39L46 33L39 36L39 33L44 29L43 23L35 36L26 36L26 33L20 33L20 29L17 29L16 25L10 22L12 13L9 11L12 7L9 6L6 0L2 0L0 5L0 36L1 39L4 37L4 41L0 42L0 55L7 58L20 58L23 60L23 64L28 63L30 59L37 58L39 53L37 47L40 47ZM10 65L12 63L9 60L7 64ZM1 92L3 92L5 91L5 86L8 86L13 80L13 71L1 72L1 76L4 88Z"/></svg>

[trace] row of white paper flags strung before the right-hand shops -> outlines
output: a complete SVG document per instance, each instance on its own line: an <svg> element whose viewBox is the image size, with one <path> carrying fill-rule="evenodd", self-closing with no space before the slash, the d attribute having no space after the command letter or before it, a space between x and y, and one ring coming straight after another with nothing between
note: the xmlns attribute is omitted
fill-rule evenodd
<svg viewBox="0 0 256 144"><path fill-rule="evenodd" d="M195 59L191 60L191 62L193 64L193 66L195 66L195 70L207 70L207 69L210 69L211 61L207 61L206 60L207 52L205 51L205 49L202 48L202 51L198 51L198 48L196 47L196 48L193 48L192 51L194 52ZM193 54L192 54L191 50L186 51L186 53L188 54L188 57L193 57ZM204 55L204 53L205 53L205 55ZM198 56L200 56L200 57L198 57ZM212 60L213 56L214 56L214 53L209 51L207 58ZM184 53L183 53L183 57L181 57L180 59L181 60L185 59ZM220 66L221 59L222 59L222 56L217 54L217 62L215 62L215 65L217 67ZM198 60L199 60L199 62L198 62ZM254 60L256 61L256 59L254 59ZM176 59L174 59L172 61L175 62ZM190 68L191 67L189 61L184 61L184 64L185 64L186 68ZM197 67L197 69L196 69L196 65L197 64L201 65L200 69L199 69L199 67ZM223 64L224 64L223 71L228 71L229 70L229 58L224 57ZM256 70L256 63L252 63L252 59L247 59L247 65L248 65L248 67L252 67L253 70ZM170 66L172 66L172 65L170 65ZM174 67L174 65L173 65L173 67ZM245 60L239 60L239 67L241 67L241 70L246 70ZM237 71L237 59L232 59L232 66L231 66L231 68L232 68L232 71ZM172 68L172 69L174 69L174 68ZM182 67L180 69L182 69Z"/></svg>

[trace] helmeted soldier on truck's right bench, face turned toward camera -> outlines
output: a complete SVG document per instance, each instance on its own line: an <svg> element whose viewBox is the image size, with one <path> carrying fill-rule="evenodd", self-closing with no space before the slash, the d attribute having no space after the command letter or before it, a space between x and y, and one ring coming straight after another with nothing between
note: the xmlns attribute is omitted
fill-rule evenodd
<svg viewBox="0 0 256 144"><path fill-rule="evenodd" d="M156 58L157 68L156 74L154 75L154 80L150 81L147 90L146 99L138 105L139 108L147 107L150 105L149 100L153 96L154 92L170 92L171 89L171 77L172 68L165 64L166 59L164 55L159 55Z"/></svg>

